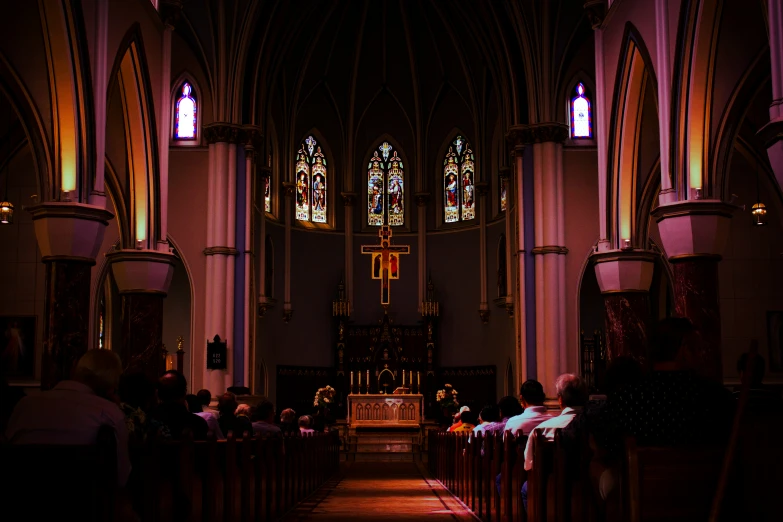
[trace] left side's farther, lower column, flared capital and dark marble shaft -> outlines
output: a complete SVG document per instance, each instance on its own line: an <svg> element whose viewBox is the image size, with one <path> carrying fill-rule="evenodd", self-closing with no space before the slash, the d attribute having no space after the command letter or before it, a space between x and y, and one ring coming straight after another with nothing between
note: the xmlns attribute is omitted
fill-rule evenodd
<svg viewBox="0 0 783 522"><path fill-rule="evenodd" d="M122 296L123 368L138 368L157 379L165 370L163 299L174 275L174 255L116 250L106 258Z"/></svg>

